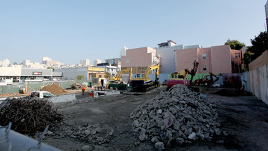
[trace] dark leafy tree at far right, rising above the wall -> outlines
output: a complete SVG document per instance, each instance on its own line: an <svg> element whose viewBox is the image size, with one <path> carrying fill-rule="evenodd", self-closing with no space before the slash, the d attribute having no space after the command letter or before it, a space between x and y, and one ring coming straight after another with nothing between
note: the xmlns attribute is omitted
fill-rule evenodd
<svg viewBox="0 0 268 151"><path fill-rule="evenodd" d="M258 36L255 36L254 39L250 39L252 42L252 47L249 47L247 51L250 52L251 60L255 60L263 54L265 50L268 49L268 36L267 32L260 32Z"/></svg>

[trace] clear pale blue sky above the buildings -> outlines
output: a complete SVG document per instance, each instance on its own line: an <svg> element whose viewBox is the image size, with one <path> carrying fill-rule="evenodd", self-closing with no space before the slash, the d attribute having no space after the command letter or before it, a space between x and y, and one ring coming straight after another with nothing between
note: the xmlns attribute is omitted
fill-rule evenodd
<svg viewBox="0 0 268 151"><path fill-rule="evenodd" d="M251 45L267 0L0 0L0 60L65 64L119 58L120 49L177 44Z"/></svg>

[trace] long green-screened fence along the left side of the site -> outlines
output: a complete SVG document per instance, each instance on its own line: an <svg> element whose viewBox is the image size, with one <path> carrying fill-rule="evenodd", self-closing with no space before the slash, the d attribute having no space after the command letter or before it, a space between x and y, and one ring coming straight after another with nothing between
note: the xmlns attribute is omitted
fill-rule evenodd
<svg viewBox="0 0 268 151"><path fill-rule="evenodd" d="M71 84L75 82L87 82L89 83L91 80L63 80L63 81L56 81L54 84L58 84L62 89L71 88ZM53 84L51 81L44 81L44 82L27 82L27 92L30 91L39 91L42 89L43 86L47 86L48 84ZM30 88L29 88L30 87ZM0 94L6 93L18 93L19 89L25 89L26 83L18 83L16 85L8 85L8 86L0 86Z"/></svg>

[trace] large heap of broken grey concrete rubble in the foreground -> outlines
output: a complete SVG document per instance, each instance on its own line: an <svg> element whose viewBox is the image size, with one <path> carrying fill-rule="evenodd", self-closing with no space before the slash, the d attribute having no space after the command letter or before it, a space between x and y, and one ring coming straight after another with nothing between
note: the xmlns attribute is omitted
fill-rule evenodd
<svg viewBox="0 0 268 151"><path fill-rule="evenodd" d="M133 131L140 141L150 140L157 149L211 141L221 135L214 106L203 95L177 84L131 113Z"/></svg>

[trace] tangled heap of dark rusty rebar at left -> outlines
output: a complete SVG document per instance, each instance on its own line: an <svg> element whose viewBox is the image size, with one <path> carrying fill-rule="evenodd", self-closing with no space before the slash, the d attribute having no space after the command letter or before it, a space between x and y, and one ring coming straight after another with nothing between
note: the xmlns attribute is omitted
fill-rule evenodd
<svg viewBox="0 0 268 151"><path fill-rule="evenodd" d="M45 130L49 125L53 127L56 122L63 119L52 102L38 97L20 97L5 100L0 108L0 125L12 122L12 130L27 135Z"/></svg>

